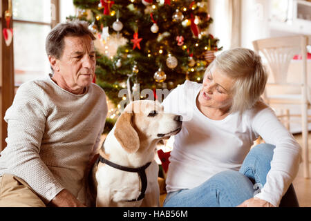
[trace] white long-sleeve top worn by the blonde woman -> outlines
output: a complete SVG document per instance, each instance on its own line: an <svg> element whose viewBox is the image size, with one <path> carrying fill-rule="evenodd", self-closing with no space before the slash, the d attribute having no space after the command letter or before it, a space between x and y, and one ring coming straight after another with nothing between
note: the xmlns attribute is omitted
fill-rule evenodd
<svg viewBox="0 0 311 221"><path fill-rule="evenodd" d="M182 115L182 130L174 137L167 191L191 189L226 170L238 171L260 135L276 146L267 181L257 198L279 206L301 162L301 147L263 102L245 113L209 119L196 106L202 84L185 81L169 93L164 111Z"/></svg>

